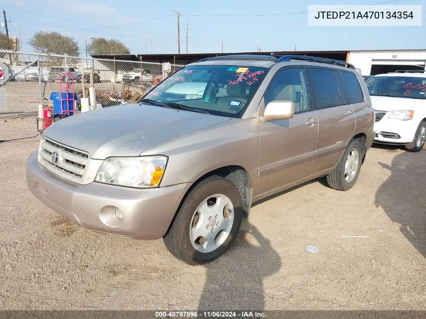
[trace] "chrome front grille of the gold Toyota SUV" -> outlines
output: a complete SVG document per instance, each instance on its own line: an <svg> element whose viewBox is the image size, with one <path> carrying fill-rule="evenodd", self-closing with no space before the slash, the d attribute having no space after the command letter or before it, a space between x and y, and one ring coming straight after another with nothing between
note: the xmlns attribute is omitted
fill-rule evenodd
<svg viewBox="0 0 426 319"><path fill-rule="evenodd" d="M58 154L58 160L53 161L53 153ZM38 162L52 173L81 183L89 155L69 146L42 138L38 151Z"/></svg>

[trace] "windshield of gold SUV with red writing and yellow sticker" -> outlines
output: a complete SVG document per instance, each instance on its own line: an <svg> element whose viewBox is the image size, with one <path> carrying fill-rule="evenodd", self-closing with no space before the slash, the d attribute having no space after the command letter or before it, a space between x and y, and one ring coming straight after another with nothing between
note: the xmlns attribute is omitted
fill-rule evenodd
<svg viewBox="0 0 426 319"><path fill-rule="evenodd" d="M144 98L238 117L267 70L249 66L189 66L165 79Z"/></svg>

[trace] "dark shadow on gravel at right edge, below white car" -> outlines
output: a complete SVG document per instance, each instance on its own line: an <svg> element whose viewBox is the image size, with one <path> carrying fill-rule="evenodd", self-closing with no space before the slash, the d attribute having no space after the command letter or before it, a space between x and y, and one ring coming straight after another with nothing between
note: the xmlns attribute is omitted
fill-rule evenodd
<svg viewBox="0 0 426 319"><path fill-rule="evenodd" d="M390 172L376 193L376 206L400 224L401 233L426 258L426 152L404 152L392 166L379 162Z"/></svg>

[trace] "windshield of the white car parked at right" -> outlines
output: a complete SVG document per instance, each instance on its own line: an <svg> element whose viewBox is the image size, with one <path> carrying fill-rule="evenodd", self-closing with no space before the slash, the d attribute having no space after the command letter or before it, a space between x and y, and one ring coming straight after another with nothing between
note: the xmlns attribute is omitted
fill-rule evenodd
<svg viewBox="0 0 426 319"><path fill-rule="evenodd" d="M366 85L372 96L426 98L426 78L372 77L366 82Z"/></svg>

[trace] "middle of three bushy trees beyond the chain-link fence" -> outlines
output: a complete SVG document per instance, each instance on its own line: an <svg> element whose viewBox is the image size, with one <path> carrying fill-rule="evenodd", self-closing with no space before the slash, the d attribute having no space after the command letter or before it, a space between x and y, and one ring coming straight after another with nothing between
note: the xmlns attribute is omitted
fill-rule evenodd
<svg viewBox="0 0 426 319"><path fill-rule="evenodd" d="M78 42L57 32L36 32L29 41L30 45L41 53L78 56Z"/></svg>

